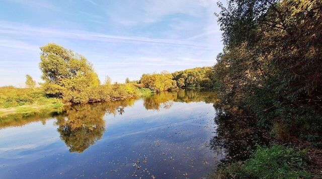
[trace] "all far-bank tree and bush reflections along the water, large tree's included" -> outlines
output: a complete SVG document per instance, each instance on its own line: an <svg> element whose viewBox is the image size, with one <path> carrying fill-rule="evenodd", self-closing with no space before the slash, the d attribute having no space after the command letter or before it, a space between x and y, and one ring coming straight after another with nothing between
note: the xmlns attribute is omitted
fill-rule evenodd
<svg viewBox="0 0 322 179"><path fill-rule="evenodd" d="M65 106L54 111L41 111L28 114L14 114L0 119L0 129L24 126L41 121L43 125L49 118L56 118L60 139L70 152L82 153L100 140L105 132L105 114L122 115L125 108L132 106L137 99L112 102ZM162 92L143 98L145 109L169 109L174 102L215 102L215 93L203 90L179 90Z"/></svg>

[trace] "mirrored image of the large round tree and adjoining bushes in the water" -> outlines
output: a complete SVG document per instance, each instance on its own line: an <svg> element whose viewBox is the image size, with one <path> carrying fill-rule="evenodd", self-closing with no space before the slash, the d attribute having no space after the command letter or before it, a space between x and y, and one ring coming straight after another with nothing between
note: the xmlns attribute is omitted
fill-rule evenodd
<svg viewBox="0 0 322 179"><path fill-rule="evenodd" d="M122 114L133 100L68 106L66 116L57 117L60 138L70 152L81 153L100 140L105 131L105 113Z"/></svg>

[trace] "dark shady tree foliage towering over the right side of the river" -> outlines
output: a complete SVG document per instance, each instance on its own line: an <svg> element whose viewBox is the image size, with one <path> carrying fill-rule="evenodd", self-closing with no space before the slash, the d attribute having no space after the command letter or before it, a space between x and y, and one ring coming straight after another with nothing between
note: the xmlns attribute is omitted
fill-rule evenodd
<svg viewBox="0 0 322 179"><path fill-rule="evenodd" d="M262 127L282 124L292 136L321 144L321 2L219 6L224 50L213 71L222 102L250 109Z"/></svg>

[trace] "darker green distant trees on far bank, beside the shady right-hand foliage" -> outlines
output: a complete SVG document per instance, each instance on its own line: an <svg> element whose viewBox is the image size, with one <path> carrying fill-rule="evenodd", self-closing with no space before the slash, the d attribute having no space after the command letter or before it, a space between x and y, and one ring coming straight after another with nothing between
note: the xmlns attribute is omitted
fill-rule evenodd
<svg viewBox="0 0 322 179"><path fill-rule="evenodd" d="M212 71L210 67L187 69L172 74L179 88L212 88Z"/></svg>

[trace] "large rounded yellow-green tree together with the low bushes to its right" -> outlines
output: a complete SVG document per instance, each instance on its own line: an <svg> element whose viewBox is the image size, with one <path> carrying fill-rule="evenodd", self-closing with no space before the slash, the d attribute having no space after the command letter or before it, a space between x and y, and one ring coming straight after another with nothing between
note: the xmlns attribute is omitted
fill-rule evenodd
<svg viewBox="0 0 322 179"><path fill-rule="evenodd" d="M136 86L130 83L111 85L108 76L100 85L93 66L82 55L54 43L40 49L40 69L45 81L43 87L49 96L62 98L65 103L78 104L138 95Z"/></svg>

